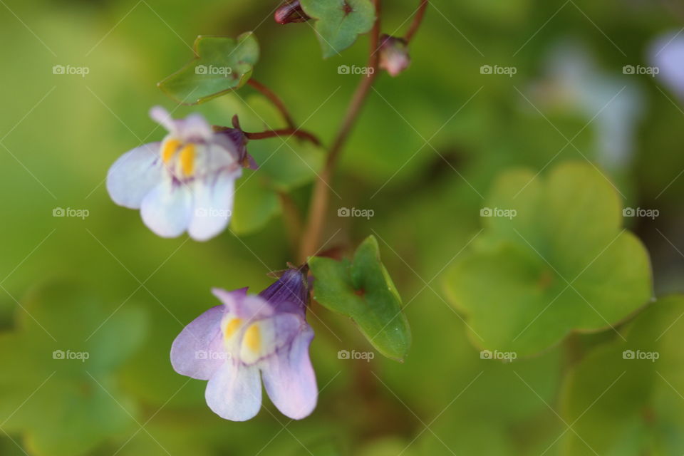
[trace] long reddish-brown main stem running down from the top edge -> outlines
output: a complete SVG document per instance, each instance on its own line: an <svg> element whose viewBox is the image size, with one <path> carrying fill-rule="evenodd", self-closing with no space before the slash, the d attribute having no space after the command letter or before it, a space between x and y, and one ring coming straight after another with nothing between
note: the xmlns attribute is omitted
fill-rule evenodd
<svg viewBox="0 0 684 456"><path fill-rule="evenodd" d="M333 141L330 152L328 152L323 171L318 175L318 180L316 180L316 184L314 185L314 191L311 195L311 207L309 207L309 219L307 220L299 247L299 259L301 262L306 261L306 258L309 257L309 255L314 254L316 252L316 247L318 247L318 244L321 242L323 219L328 209L328 199L330 197L328 189L331 185L330 180L333 175L333 170L337 164L342 147L348 139L349 133L351 133L359 113L361 113L361 108L363 108L363 103L366 101L371 86L373 86L375 76L378 74L378 59L380 58L380 53L376 51L378 51L378 44L380 42L380 0L373 0L373 3L375 4L375 24L371 31L371 46L368 57L368 67L372 68L372 71L369 70L368 75L363 76L361 82L358 83L356 92L351 98L346 115L342 120L342 125Z"/></svg>

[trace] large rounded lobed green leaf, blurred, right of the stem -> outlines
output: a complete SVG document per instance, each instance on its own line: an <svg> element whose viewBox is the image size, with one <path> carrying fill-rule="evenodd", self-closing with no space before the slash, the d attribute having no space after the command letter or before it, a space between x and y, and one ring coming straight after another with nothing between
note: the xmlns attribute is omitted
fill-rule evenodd
<svg viewBox="0 0 684 456"><path fill-rule="evenodd" d="M611 328L651 299L648 253L621 229L616 190L589 163L546 179L507 172L482 210L484 232L445 278L476 346L529 356L571 331Z"/></svg>

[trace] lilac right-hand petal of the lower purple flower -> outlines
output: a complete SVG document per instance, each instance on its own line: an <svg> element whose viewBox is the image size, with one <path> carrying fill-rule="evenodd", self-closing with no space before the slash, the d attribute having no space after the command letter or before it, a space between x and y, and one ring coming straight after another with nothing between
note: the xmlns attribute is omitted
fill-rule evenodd
<svg viewBox="0 0 684 456"><path fill-rule="evenodd" d="M278 410L293 420L305 418L316 408L318 387L309 358L312 338L314 331L307 325L291 346L266 358L261 365L266 393Z"/></svg>

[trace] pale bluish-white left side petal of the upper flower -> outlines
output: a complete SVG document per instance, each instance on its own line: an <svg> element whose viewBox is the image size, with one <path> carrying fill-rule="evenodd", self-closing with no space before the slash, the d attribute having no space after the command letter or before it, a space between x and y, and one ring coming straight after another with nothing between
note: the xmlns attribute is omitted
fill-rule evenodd
<svg viewBox="0 0 684 456"><path fill-rule="evenodd" d="M107 173L107 190L116 204L139 209L142 199L159 184L162 164L160 142L135 147L121 155Z"/></svg>

